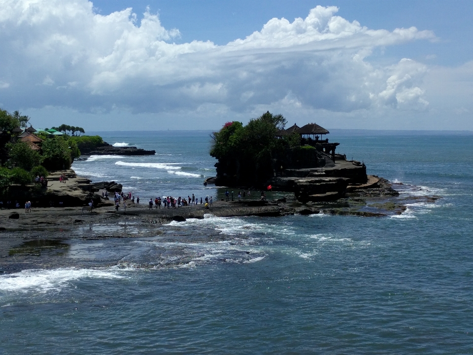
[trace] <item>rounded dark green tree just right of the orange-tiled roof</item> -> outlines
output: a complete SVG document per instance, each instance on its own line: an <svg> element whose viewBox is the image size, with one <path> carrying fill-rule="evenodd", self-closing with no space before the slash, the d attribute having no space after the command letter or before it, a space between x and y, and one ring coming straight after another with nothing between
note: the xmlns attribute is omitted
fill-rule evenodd
<svg viewBox="0 0 473 355"><path fill-rule="evenodd" d="M55 136L42 143L43 163L48 170L69 169L72 162L68 137Z"/></svg>

